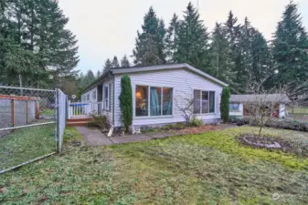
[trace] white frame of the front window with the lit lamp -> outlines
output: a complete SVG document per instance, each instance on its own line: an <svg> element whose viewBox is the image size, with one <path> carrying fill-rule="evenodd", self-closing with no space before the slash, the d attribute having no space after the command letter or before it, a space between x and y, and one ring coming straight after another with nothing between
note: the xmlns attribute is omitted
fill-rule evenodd
<svg viewBox="0 0 308 205"><path fill-rule="evenodd" d="M147 87L148 88L148 95L147 95L147 108L148 108L148 113L147 116L136 116L136 89L137 87ZM151 87L155 87L155 88L161 88L161 115L160 116L151 116ZM164 99L164 88L170 88L172 89L172 114L171 115L163 115L163 99ZM160 86L148 86L148 85L136 85L134 87L134 108L133 108L133 117L134 118L166 118L166 117L173 117L174 115L174 92L175 92L175 88L174 87L160 87Z"/></svg>

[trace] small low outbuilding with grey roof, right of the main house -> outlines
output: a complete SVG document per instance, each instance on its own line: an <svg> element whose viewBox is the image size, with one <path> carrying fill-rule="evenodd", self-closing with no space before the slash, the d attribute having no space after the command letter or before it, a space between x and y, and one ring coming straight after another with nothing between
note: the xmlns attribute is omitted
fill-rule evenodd
<svg viewBox="0 0 308 205"><path fill-rule="evenodd" d="M287 117L286 104L291 103L286 94L260 94L260 95L231 95L229 101L229 115L233 117L247 116L247 103L275 103L279 118Z"/></svg>

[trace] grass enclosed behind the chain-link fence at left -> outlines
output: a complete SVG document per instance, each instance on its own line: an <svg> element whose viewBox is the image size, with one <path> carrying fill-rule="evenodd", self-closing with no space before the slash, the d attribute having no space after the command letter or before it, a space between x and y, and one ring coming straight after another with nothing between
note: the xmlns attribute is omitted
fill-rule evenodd
<svg viewBox="0 0 308 205"><path fill-rule="evenodd" d="M55 151L54 124L16 128L0 138L0 170Z"/></svg>

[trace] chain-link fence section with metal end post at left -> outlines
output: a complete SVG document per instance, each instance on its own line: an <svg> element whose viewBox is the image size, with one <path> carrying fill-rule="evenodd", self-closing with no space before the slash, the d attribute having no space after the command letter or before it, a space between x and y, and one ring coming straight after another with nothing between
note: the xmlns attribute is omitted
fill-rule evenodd
<svg viewBox="0 0 308 205"><path fill-rule="evenodd" d="M0 86L0 174L61 151L66 101L59 89Z"/></svg>

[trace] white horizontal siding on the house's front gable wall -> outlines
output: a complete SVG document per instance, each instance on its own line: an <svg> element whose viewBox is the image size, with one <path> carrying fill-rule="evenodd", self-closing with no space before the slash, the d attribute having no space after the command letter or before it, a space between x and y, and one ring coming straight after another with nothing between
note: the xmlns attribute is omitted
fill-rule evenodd
<svg viewBox="0 0 308 205"><path fill-rule="evenodd" d="M196 73L192 73L185 68L173 69L173 70L159 70L142 73L131 73L132 88L133 88L133 125L154 125L164 123L182 122L185 120L183 113L178 107L185 106L184 98L192 98L194 89L215 91L215 113L214 114L199 114L197 118L203 121L211 122L220 118L220 95L222 87L217 83L208 80L205 77L201 77ZM119 96L121 93L121 77L117 75L115 77L114 85L116 87L114 91L114 124L115 127L121 126L121 110ZM150 86L150 87L172 87L173 88L173 115L162 117L135 117L135 87L136 86Z"/></svg>

